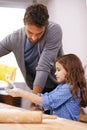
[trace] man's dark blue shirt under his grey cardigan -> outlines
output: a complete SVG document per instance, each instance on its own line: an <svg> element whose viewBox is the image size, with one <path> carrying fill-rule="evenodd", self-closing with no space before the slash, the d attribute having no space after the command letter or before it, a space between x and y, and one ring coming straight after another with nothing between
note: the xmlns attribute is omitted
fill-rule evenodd
<svg viewBox="0 0 87 130"><path fill-rule="evenodd" d="M38 43L32 44L28 39L26 39L24 49L26 69L29 73L35 74L35 69L39 60Z"/></svg>

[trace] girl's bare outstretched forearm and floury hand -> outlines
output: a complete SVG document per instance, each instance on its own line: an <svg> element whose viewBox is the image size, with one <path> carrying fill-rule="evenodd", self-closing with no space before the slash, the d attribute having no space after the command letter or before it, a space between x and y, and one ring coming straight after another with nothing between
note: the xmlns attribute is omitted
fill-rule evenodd
<svg viewBox="0 0 87 130"><path fill-rule="evenodd" d="M14 89L7 89L6 92L12 97L22 97L30 102L33 102L38 105L42 105L42 98L36 94L30 93L23 89L14 88Z"/></svg>

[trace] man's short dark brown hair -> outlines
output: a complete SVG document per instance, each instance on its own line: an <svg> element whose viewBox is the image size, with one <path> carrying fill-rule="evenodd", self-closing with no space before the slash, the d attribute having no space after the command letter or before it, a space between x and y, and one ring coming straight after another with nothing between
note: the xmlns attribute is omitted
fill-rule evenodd
<svg viewBox="0 0 87 130"><path fill-rule="evenodd" d="M46 26L48 24L48 10L43 4L33 4L27 7L24 15L24 24L33 24L37 27Z"/></svg>

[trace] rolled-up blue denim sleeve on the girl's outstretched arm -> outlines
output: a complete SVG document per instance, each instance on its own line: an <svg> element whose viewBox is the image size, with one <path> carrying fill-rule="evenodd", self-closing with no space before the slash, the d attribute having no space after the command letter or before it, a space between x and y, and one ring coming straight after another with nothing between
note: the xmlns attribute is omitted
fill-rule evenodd
<svg viewBox="0 0 87 130"><path fill-rule="evenodd" d="M44 110L55 109L60 107L63 103L72 97L68 88L69 86L59 85L50 93L39 94L42 97L42 107Z"/></svg>

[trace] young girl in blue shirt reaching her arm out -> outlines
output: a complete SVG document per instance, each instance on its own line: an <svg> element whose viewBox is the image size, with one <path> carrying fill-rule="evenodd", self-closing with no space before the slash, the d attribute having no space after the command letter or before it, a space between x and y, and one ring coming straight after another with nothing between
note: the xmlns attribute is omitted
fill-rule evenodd
<svg viewBox="0 0 87 130"><path fill-rule="evenodd" d="M78 120L80 107L87 106L87 86L80 59L74 54L61 56L56 60L56 78L60 83L50 93L38 95L22 89L7 89L13 97L23 97L40 105L44 110L61 118Z"/></svg>

